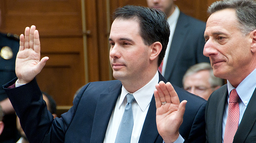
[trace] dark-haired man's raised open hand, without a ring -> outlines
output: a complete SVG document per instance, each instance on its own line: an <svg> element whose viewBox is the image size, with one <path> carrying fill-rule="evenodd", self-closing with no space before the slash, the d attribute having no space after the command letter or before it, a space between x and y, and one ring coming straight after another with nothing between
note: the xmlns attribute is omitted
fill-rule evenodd
<svg viewBox="0 0 256 143"><path fill-rule="evenodd" d="M44 57L40 61L40 40L35 26L26 27L25 36L20 35L20 49L16 57L15 72L19 83L25 84L33 80L48 59Z"/></svg>

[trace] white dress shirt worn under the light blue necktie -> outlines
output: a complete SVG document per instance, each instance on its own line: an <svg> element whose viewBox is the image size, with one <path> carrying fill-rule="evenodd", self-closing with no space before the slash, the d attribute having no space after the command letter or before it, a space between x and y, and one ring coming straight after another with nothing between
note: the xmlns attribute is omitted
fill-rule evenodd
<svg viewBox="0 0 256 143"><path fill-rule="evenodd" d="M154 90L156 89L155 85L159 81L158 72L154 75L154 78L147 83L144 87L137 90L134 93L131 93L135 100L132 102L132 113L134 118L134 125L132 130L132 138L131 143L138 143L139 136L142 131L142 127L147 116L147 111L149 109L149 104L154 94ZM104 143L114 143L117 131L119 128L119 124L121 122L122 116L124 114L124 107L127 104L126 95L129 92L122 86L121 95L117 99L117 103L114 107L112 115L109 120L109 124L107 126L107 132L104 138Z"/></svg>

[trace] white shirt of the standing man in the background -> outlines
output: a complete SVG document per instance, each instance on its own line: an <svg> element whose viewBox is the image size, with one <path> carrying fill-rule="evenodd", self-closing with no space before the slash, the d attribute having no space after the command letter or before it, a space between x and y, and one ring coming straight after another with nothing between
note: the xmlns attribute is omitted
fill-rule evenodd
<svg viewBox="0 0 256 143"><path fill-rule="evenodd" d="M170 47L171 47L172 37L173 37L174 30L176 28L176 24L177 24L177 21L178 21L178 18L179 18L179 13L180 13L179 7L177 7L175 5L174 12L167 19L168 23L169 23L169 26L170 26L170 36L169 36L169 42L168 42L168 45L167 45L167 48L166 48L166 51L165 51L164 60L163 60L163 66L162 66L162 75L163 76L164 76L164 72L165 72L165 68L166 68L166 64L167 64L167 58L168 58Z"/></svg>

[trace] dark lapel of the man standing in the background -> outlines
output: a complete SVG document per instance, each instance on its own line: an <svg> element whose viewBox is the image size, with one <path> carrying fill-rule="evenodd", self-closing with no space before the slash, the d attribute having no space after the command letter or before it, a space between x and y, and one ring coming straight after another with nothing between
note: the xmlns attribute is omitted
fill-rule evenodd
<svg viewBox="0 0 256 143"><path fill-rule="evenodd" d="M171 47L167 59L167 65L165 68L164 77L169 79L174 68L174 63L176 61L176 57L178 56L179 51L181 50L181 45L186 36L186 32L188 30L189 22L186 22L187 19L184 18L184 14L180 12L179 18L175 27L174 36L171 41Z"/></svg>

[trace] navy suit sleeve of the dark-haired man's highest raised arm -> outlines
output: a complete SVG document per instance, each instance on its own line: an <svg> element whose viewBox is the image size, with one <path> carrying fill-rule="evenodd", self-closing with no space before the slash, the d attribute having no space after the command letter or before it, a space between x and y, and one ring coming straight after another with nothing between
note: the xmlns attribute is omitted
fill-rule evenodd
<svg viewBox="0 0 256 143"><path fill-rule="evenodd" d="M46 103L42 99L42 93L36 80L32 80L20 87L8 88L15 83L17 78L3 85L20 124L30 143L64 143L65 133L70 126L75 114L77 104L82 93L74 100L74 106L61 118L53 119Z"/></svg>

